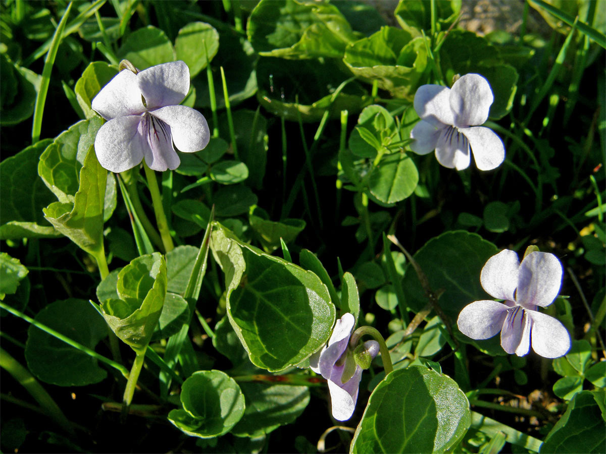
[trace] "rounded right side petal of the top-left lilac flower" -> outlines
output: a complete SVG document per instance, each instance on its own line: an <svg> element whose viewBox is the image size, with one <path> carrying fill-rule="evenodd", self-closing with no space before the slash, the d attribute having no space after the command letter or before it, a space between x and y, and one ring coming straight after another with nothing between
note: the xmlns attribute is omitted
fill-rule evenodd
<svg viewBox="0 0 606 454"><path fill-rule="evenodd" d="M170 105L151 112L151 115L170 126L173 142L179 151L193 153L208 145L208 123L197 110L184 105Z"/></svg>

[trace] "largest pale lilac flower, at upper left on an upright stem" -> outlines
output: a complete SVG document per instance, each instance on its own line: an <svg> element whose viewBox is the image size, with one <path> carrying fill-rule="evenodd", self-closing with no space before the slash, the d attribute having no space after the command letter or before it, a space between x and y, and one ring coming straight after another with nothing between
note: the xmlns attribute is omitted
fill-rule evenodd
<svg viewBox="0 0 606 454"><path fill-rule="evenodd" d="M210 139L206 119L178 105L189 86L189 68L182 61L138 74L120 71L92 102L93 109L109 120L95 138L99 163L122 172L145 158L149 168L165 171L181 163L175 147L187 153L202 150Z"/></svg>

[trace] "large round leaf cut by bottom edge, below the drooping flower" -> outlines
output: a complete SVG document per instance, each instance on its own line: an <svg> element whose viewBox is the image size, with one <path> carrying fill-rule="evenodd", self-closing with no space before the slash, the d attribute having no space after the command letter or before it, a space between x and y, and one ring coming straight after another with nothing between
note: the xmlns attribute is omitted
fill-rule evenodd
<svg viewBox="0 0 606 454"><path fill-rule="evenodd" d="M422 366L391 372L368 400L351 453L446 452L471 424L451 378Z"/></svg>

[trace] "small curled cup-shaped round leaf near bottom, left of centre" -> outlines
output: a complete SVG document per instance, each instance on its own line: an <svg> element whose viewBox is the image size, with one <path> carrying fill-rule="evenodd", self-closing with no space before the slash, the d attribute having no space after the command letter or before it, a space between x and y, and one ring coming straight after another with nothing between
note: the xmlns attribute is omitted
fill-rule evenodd
<svg viewBox="0 0 606 454"><path fill-rule="evenodd" d="M200 370L181 388L183 409L168 420L191 436L213 438L229 432L244 415L244 395L233 378L220 370Z"/></svg>

